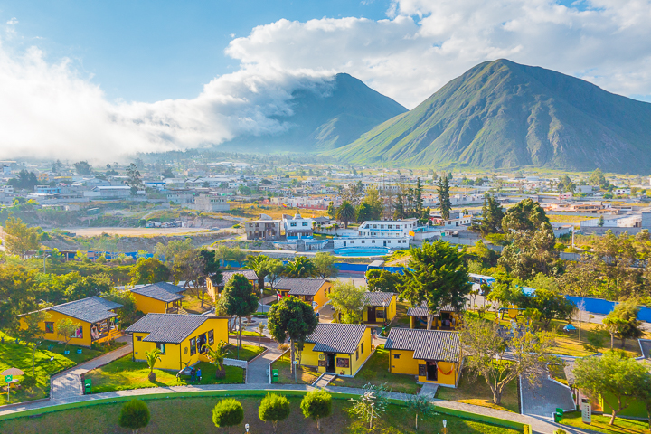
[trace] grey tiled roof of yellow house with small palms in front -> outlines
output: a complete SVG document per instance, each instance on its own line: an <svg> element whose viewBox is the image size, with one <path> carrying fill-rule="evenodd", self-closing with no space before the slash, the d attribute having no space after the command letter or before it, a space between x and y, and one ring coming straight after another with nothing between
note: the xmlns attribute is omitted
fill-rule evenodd
<svg viewBox="0 0 651 434"><path fill-rule="evenodd" d="M143 341L180 344L205 321L215 316L147 314L127 328L127 333L148 333Z"/></svg>

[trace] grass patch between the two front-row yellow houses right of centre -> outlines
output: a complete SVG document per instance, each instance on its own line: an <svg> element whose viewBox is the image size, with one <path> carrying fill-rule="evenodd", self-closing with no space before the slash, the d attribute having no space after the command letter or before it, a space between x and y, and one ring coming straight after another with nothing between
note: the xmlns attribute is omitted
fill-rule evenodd
<svg viewBox="0 0 651 434"><path fill-rule="evenodd" d="M363 368L353 378L337 377L333 386L363 387L366 383L384 384L391 388L392 392L418 393L420 384L416 384L414 375L389 372L389 351L378 346L375 353L366 361Z"/></svg>

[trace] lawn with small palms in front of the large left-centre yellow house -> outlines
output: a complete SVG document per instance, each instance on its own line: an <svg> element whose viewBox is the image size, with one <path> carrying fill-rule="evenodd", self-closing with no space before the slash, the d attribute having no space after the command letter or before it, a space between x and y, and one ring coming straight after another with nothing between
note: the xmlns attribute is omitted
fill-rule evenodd
<svg viewBox="0 0 651 434"><path fill-rule="evenodd" d="M147 387L182 386L185 384L232 384L244 382L244 370L236 366L226 366L226 378L216 379L216 368L212 363L197 363L202 370L201 382L190 382L190 377L176 379L176 373L155 369L156 382L149 382L149 367L145 362L133 362L131 354L111 362L86 374L92 381L92 392L113 392Z"/></svg>

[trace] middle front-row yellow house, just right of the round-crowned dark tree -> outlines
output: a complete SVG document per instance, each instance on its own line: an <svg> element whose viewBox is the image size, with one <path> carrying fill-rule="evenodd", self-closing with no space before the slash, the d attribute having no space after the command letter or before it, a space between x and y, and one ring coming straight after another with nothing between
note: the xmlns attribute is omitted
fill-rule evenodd
<svg viewBox="0 0 651 434"><path fill-rule="evenodd" d="M354 376L373 353L371 327L363 324L322 323L309 335L300 363L319 373Z"/></svg>

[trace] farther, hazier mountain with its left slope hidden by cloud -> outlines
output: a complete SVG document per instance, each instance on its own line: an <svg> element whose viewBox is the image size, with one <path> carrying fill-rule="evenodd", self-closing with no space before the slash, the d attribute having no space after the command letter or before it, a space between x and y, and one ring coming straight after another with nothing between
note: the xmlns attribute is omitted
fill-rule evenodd
<svg viewBox="0 0 651 434"><path fill-rule="evenodd" d="M348 74L292 92L291 116L276 116L286 128L279 134L242 136L220 147L248 152L310 153L347 145L362 133L407 111L391 98Z"/></svg>

